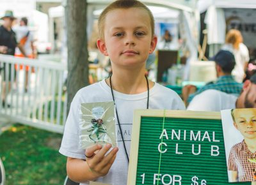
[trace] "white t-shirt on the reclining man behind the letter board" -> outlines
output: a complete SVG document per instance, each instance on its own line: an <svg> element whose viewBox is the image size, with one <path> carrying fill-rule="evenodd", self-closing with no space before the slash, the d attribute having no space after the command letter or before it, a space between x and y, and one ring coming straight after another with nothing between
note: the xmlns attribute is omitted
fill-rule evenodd
<svg viewBox="0 0 256 185"><path fill-rule="evenodd" d="M198 95L189 103L187 110L216 111L236 108L237 96L214 89L209 89Z"/></svg>

